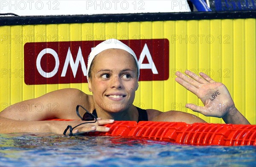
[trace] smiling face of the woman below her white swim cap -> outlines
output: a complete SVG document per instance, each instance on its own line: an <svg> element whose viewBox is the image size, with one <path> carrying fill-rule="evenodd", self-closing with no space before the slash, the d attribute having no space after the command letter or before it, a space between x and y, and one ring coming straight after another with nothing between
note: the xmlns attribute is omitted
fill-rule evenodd
<svg viewBox="0 0 256 167"><path fill-rule="evenodd" d="M89 90L96 104L108 112L131 107L138 89L137 68L131 54L122 49L108 49L94 58Z"/></svg>

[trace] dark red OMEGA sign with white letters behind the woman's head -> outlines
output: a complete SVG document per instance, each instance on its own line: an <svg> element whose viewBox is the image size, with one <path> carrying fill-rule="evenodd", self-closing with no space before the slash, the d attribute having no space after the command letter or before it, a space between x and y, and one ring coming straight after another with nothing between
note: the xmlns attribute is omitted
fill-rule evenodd
<svg viewBox="0 0 256 167"><path fill-rule="evenodd" d="M137 55L139 81L169 78L167 39L121 40ZM24 79L27 85L87 82L87 59L102 41L29 42L24 45ZM118 60L116 60L118 61Z"/></svg>

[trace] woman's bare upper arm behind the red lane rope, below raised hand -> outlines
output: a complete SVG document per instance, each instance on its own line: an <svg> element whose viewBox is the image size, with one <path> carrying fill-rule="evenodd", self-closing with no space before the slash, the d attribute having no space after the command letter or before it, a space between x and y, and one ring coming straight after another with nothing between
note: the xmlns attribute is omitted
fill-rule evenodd
<svg viewBox="0 0 256 167"><path fill-rule="evenodd" d="M186 122L187 124L192 124L195 122L205 121L198 116L190 113L185 113L181 111L167 111L160 112L158 110L149 109L147 110L149 121L160 121L160 122Z"/></svg>

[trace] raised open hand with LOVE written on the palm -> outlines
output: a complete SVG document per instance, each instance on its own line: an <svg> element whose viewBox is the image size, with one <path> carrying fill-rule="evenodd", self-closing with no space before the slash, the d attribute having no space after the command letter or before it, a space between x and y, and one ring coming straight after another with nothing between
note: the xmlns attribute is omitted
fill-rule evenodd
<svg viewBox="0 0 256 167"><path fill-rule="evenodd" d="M204 107L195 104L186 104L186 108L202 113L205 116L218 118L223 118L230 110L235 108L233 99L224 84L215 82L204 73L200 73L200 77L186 70L185 74L178 71L175 80L198 96L204 103Z"/></svg>

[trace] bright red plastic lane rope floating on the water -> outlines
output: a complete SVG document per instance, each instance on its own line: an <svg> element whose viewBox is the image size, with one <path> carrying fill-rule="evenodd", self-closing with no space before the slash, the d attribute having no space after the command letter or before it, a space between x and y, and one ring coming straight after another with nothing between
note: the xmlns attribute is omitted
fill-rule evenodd
<svg viewBox="0 0 256 167"><path fill-rule="evenodd" d="M52 119L72 121L70 119ZM133 136L179 144L256 146L256 125L233 125L184 122L115 121L104 125L109 132L90 132L90 135Z"/></svg>

